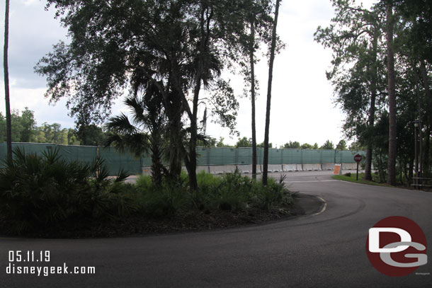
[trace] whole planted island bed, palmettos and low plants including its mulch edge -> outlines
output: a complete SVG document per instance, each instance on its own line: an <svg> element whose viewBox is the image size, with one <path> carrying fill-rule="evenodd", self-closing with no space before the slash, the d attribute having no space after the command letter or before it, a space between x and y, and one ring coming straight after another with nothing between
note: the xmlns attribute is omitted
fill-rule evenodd
<svg viewBox="0 0 432 288"><path fill-rule="evenodd" d="M154 185L149 175L125 183L109 177L103 159L66 161L56 149L42 155L14 150L0 170L0 234L23 236L118 236L202 230L278 219L290 214L293 195L284 178L263 186L238 171L198 173Z"/></svg>

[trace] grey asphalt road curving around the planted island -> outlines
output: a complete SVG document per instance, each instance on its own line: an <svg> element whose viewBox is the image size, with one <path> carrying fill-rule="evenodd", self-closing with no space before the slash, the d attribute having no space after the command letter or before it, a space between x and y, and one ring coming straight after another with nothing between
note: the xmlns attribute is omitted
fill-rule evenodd
<svg viewBox="0 0 432 288"><path fill-rule="evenodd" d="M421 275L404 277L382 275L365 253L368 229L394 215L416 221L431 242L432 193L345 183L332 180L331 171L288 173L287 181L291 190L322 197L325 209L287 221L200 233L0 238L0 287L432 287L430 252L428 264L416 270ZM9 250L50 250L49 263L30 265L66 263L69 272L74 266L94 266L96 274L6 274Z"/></svg>

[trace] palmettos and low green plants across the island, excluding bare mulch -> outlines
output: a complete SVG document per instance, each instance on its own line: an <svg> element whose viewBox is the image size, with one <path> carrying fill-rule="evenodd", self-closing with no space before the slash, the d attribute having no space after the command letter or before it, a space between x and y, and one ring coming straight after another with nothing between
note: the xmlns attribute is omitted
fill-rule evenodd
<svg viewBox="0 0 432 288"><path fill-rule="evenodd" d="M170 217L191 209L270 210L292 199L284 178L269 179L263 186L239 171L221 177L201 172L197 191L189 188L186 173L176 183L164 179L154 186L149 176L142 175L132 185L123 182L127 178L123 171L109 177L101 159L86 165L65 161L58 152L46 150L38 156L15 149L13 161L5 162L6 168L0 170L0 224L11 233L57 229L132 213Z"/></svg>

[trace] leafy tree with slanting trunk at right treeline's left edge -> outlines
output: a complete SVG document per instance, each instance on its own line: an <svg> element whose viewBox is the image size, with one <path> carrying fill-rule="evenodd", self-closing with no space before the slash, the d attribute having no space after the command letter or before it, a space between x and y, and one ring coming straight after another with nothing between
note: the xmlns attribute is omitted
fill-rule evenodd
<svg viewBox="0 0 432 288"><path fill-rule="evenodd" d="M336 103L346 113L343 131L367 146L365 179L372 180L373 135L377 99L382 91L384 67L379 58L382 9L357 6L355 1L333 1L336 16L328 28L317 28L315 40L333 51L327 79L335 87Z"/></svg>

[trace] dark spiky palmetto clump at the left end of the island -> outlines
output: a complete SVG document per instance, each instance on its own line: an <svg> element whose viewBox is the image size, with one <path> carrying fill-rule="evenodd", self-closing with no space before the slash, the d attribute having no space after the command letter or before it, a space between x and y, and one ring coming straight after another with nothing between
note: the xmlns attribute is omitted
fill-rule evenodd
<svg viewBox="0 0 432 288"><path fill-rule="evenodd" d="M125 217L137 210L122 171L108 178L101 159L83 165L62 159L58 149L42 156L14 149L0 170L0 217L11 233L38 231L66 221ZM124 192L127 192L126 194Z"/></svg>

